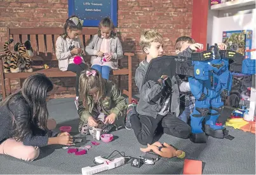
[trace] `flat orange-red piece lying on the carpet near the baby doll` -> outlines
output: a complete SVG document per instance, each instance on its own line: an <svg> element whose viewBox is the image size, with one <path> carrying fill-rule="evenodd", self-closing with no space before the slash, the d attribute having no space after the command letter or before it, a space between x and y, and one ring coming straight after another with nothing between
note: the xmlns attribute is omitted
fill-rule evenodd
<svg viewBox="0 0 256 175"><path fill-rule="evenodd" d="M202 174L203 162L200 160L184 160L183 174Z"/></svg>

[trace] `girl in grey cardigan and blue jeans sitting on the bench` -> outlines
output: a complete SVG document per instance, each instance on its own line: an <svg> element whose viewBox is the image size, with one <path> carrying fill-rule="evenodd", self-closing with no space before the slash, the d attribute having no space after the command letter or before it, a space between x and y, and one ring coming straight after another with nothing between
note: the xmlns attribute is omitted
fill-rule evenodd
<svg viewBox="0 0 256 175"><path fill-rule="evenodd" d="M98 34L93 36L85 51L91 55L91 68L96 69L102 78L109 80L111 69L118 69L118 59L123 57L123 48L110 18L100 21Z"/></svg>

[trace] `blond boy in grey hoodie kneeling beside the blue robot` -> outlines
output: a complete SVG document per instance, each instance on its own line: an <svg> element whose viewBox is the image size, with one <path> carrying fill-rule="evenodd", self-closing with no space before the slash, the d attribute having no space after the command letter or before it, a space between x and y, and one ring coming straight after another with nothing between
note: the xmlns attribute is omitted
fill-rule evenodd
<svg viewBox="0 0 256 175"><path fill-rule="evenodd" d="M151 144L162 133L179 138L189 138L191 127L177 118L179 115L179 85L175 76L172 80L172 94L163 95L164 80L168 78L162 75L158 81L149 80L143 84L143 79L151 59L163 56L163 37L154 30L145 31L140 37L140 45L147 54L135 73L135 82L140 91L140 100L137 109L130 105L127 109L125 126L133 129L135 136L142 145ZM175 67L174 67L175 68ZM180 87L189 87L187 82L182 82ZM138 112L138 114L137 114Z"/></svg>

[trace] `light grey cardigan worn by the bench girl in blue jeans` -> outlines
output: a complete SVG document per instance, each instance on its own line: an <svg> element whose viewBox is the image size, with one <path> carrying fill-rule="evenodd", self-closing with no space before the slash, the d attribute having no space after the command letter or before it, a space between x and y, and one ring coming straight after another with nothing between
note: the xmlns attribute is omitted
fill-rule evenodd
<svg viewBox="0 0 256 175"><path fill-rule="evenodd" d="M93 35L90 44L85 47L87 55L91 56L91 62L97 58L97 52L100 51L102 39L97 35ZM111 40L111 53L113 54L112 61L118 67L118 59L123 58L123 47L118 37Z"/></svg>

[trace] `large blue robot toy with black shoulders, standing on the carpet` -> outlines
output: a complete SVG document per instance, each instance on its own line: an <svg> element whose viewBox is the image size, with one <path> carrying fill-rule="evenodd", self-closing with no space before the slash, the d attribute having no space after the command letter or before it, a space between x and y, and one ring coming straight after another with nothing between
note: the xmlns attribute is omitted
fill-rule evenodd
<svg viewBox="0 0 256 175"><path fill-rule="evenodd" d="M244 59L237 52L219 50L215 44L207 51L193 53L191 61L194 76L189 76L189 85L196 104L191 114L190 140L206 143L208 136L232 140L234 137L228 135L223 124L234 108L224 106L222 99L231 92L231 71L253 75L255 59Z"/></svg>

